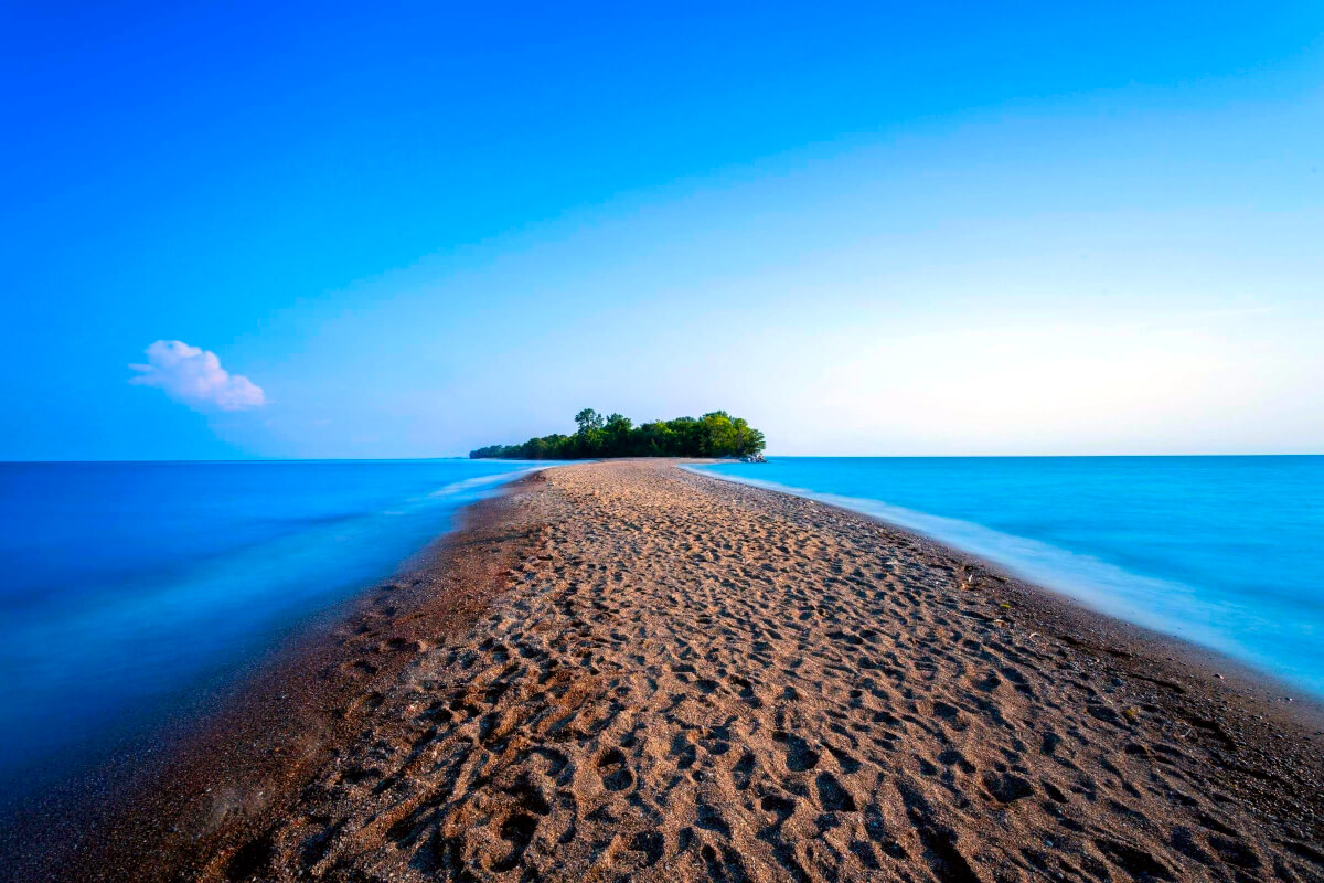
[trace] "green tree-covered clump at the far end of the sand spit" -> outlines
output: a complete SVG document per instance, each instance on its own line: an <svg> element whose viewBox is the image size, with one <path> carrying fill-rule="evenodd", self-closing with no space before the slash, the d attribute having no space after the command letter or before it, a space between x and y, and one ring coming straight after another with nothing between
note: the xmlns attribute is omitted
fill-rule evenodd
<svg viewBox="0 0 1324 883"><path fill-rule="evenodd" d="M629 417L604 417L592 408L575 414L573 436L543 436L523 445L489 445L470 459L589 459L598 457L752 457L763 451L763 433L743 417L714 410L695 420L654 420L636 426Z"/></svg>

